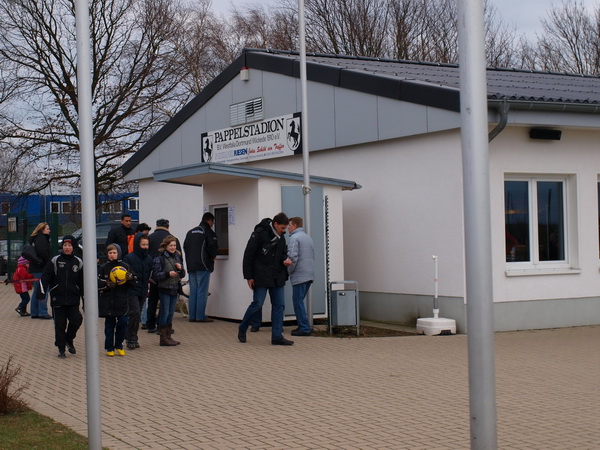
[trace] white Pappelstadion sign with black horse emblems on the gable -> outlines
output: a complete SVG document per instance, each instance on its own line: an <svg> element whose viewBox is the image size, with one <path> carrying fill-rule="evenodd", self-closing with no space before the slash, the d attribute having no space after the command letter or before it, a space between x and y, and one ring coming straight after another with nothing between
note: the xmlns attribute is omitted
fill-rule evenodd
<svg viewBox="0 0 600 450"><path fill-rule="evenodd" d="M202 133L202 162L237 164L302 153L300 113Z"/></svg>

